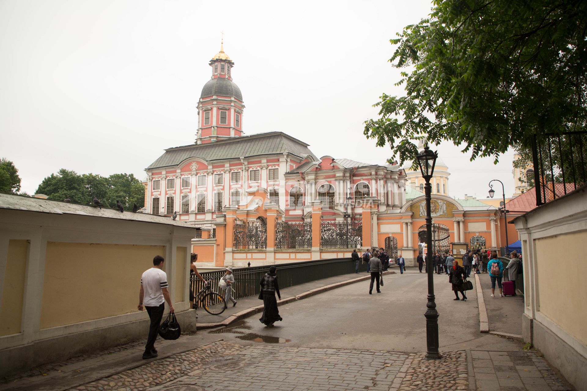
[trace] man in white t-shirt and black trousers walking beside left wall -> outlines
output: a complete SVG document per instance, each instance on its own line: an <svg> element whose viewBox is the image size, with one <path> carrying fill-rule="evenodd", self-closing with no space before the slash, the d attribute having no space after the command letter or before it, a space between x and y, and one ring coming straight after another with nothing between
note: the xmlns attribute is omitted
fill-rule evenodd
<svg viewBox="0 0 587 391"><path fill-rule="evenodd" d="M161 270L165 260L160 255L153 258L153 267L143 273L141 276L141 290L139 292L139 311L143 311L143 305L147 309L147 314L151 319L149 326L149 338L145 345L143 359L156 358L157 349L155 349L155 340L157 332L163 318L165 302L169 304L169 312L176 312L171 304L171 297L167 289L167 274Z"/></svg>

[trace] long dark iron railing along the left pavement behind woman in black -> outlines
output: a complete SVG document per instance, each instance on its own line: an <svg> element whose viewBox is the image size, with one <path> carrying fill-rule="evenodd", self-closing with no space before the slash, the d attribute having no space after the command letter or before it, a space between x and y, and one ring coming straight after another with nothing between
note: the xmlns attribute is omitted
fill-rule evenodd
<svg viewBox="0 0 587 391"><path fill-rule="evenodd" d="M232 297L239 299L242 297L254 296L259 294L261 278L269 271L267 266L241 267L234 268L234 294ZM350 258L323 259L319 261L306 261L297 263L277 264L277 276L279 288L292 287L294 285L305 284L311 281L321 280L322 278L340 276L355 272L355 262ZM359 271L366 271L366 264L359 264ZM224 270L205 271L200 273L204 280L211 280L212 290L224 295L224 291L219 290L218 281L224 276ZM197 294L203 288L202 281L194 275L190 278L190 289Z"/></svg>

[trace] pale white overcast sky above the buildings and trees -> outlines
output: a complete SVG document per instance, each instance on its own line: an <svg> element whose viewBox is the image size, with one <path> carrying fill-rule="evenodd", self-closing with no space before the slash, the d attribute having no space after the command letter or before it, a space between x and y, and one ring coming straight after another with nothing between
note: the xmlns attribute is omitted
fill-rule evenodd
<svg viewBox="0 0 587 391"><path fill-rule="evenodd" d="M332 155L384 164L363 135L394 87L389 39L429 1L0 0L0 157L30 194L60 168L145 176L164 148L194 142L198 98L220 49L245 103L245 134L283 131ZM450 143L451 196L513 192L513 153L469 161ZM501 193L501 189L498 189Z"/></svg>

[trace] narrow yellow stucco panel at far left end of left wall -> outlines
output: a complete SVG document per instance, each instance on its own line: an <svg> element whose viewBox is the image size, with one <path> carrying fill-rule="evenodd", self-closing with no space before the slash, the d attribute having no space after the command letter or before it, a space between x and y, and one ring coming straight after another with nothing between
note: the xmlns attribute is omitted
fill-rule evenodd
<svg viewBox="0 0 587 391"><path fill-rule="evenodd" d="M2 303L0 336L21 332L22 300L25 292L26 240L9 240Z"/></svg>

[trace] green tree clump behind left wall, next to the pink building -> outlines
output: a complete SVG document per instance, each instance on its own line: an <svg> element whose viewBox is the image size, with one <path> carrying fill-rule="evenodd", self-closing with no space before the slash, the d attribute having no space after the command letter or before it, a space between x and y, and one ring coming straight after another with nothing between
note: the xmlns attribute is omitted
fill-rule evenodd
<svg viewBox="0 0 587 391"><path fill-rule="evenodd" d="M116 200L120 200L126 210L132 210L134 203L140 208L144 206L144 186L133 174L113 174L106 178L97 174L79 175L62 168L43 179L36 192L49 199L69 198L85 205L93 205L96 197L110 208L116 208Z"/></svg>

